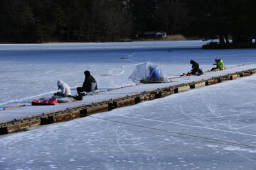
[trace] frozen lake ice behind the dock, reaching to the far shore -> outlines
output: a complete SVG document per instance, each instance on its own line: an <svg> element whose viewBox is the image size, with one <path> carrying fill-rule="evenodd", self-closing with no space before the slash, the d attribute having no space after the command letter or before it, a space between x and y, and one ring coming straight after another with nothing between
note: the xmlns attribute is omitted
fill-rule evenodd
<svg viewBox="0 0 256 170"><path fill-rule="evenodd" d="M0 45L0 108L30 104L50 97L60 79L72 87L82 86L87 69L100 89L134 84L127 79L137 64L160 64L168 77L191 70L195 60L203 70L221 58L226 67L255 62L256 50L201 50L206 42L116 42Z"/></svg>

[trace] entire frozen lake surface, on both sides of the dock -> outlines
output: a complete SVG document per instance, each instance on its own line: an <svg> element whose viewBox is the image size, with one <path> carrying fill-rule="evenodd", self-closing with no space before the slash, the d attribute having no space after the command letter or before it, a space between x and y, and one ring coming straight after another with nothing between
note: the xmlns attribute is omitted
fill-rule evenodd
<svg viewBox="0 0 256 170"><path fill-rule="evenodd" d="M201 50L205 42L0 45L0 107L75 88L90 70L100 89L134 84L137 64L167 77L255 62L255 49ZM256 75L69 122L0 136L0 169L255 169ZM0 111L1 113L1 111ZM233 143L233 144L232 144Z"/></svg>

